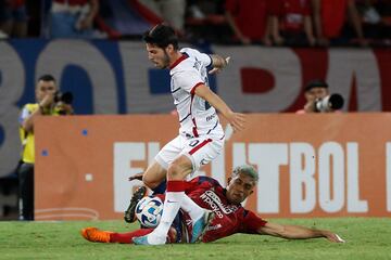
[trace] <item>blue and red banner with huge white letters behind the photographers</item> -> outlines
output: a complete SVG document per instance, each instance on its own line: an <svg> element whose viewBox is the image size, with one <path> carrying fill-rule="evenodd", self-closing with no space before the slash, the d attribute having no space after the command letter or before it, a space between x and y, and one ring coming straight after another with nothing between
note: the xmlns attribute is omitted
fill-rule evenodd
<svg viewBox="0 0 391 260"><path fill-rule="evenodd" d="M391 52L386 48L212 44L202 51L232 56L210 82L238 112L295 112L314 78L326 79L330 92L343 95L344 110L391 110ZM12 173L20 159L18 113L34 103L35 82L43 74L73 92L78 115L174 109L168 70L151 67L139 41L11 39L0 42L0 177Z"/></svg>

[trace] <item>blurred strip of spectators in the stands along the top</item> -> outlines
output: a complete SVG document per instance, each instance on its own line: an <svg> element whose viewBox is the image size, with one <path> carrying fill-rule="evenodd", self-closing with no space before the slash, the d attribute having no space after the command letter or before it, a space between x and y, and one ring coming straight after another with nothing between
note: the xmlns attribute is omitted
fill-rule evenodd
<svg viewBox="0 0 391 260"><path fill-rule="evenodd" d="M139 39L162 22L189 42L391 46L391 0L0 0L0 39Z"/></svg>

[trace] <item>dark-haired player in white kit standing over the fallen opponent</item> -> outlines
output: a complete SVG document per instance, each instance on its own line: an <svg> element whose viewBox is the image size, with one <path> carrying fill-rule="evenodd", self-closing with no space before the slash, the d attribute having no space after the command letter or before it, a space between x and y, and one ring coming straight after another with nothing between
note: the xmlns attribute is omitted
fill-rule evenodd
<svg viewBox="0 0 391 260"><path fill-rule="evenodd" d="M163 24L147 31L143 40L155 67L171 69L171 90L180 118L178 136L159 152L142 180L153 188L167 178L166 200L171 203L164 205L162 221L153 233L135 239L138 244L161 245L180 207L190 212L193 237L201 234L210 213L186 196L185 178L209 164L224 147L224 131L216 110L236 131L243 129L244 116L234 113L207 87L206 67L213 67L210 74L217 73L228 64L228 58L190 48L179 51L174 28Z"/></svg>

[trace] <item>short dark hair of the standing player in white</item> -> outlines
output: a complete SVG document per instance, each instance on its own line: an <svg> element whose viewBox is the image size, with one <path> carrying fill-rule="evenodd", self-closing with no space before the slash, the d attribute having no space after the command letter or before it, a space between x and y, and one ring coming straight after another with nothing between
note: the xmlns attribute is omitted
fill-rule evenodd
<svg viewBox="0 0 391 260"><path fill-rule="evenodd" d="M178 37L175 34L173 27L159 24L152 29L146 31L142 36L142 40L147 43L157 46L159 48L166 48L168 44L173 44L174 50L178 50Z"/></svg>

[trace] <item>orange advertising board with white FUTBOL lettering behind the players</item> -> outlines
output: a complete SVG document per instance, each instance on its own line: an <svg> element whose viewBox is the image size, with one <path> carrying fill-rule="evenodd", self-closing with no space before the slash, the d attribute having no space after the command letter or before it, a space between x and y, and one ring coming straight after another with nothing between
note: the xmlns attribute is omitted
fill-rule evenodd
<svg viewBox="0 0 391 260"><path fill-rule="evenodd" d="M265 218L390 217L390 128L389 113L252 114L203 173L225 185L234 167L254 165L244 204ZM122 218L141 184L128 177L176 134L172 115L40 117L36 219Z"/></svg>

